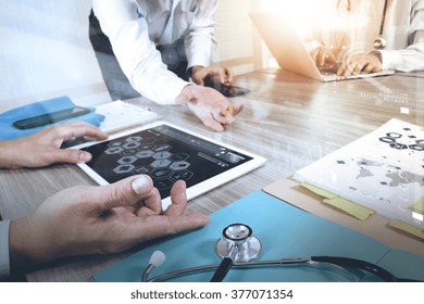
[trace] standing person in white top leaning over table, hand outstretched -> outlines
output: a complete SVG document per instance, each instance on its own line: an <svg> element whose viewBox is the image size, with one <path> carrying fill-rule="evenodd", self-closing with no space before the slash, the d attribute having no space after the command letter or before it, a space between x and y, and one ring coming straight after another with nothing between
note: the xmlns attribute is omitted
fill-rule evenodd
<svg viewBox="0 0 424 304"><path fill-rule="evenodd" d="M187 104L216 131L234 122L241 103L203 86L211 79L229 85L234 77L229 68L210 66L217 0L92 4L89 36L113 100L141 94L162 104Z"/></svg>

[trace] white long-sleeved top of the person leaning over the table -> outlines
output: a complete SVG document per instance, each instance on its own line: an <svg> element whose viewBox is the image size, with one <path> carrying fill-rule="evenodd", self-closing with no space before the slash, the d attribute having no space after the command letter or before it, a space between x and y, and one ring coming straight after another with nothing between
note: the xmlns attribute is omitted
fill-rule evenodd
<svg viewBox="0 0 424 304"><path fill-rule="evenodd" d="M210 65L217 0L92 0L92 4L121 68L144 97L172 104L188 85L167 71L157 45L183 38L188 68Z"/></svg>

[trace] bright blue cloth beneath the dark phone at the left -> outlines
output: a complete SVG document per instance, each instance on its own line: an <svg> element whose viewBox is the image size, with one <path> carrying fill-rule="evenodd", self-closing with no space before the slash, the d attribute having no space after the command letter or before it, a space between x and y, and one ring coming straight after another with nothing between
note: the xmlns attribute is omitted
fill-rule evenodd
<svg viewBox="0 0 424 304"><path fill-rule="evenodd" d="M26 130L20 130L13 126L13 123L20 119L29 118L51 112L65 110L75 106L68 97L59 97L49 100L42 100L35 103L26 104L20 107L12 109L8 112L0 114L0 140L16 139L34 132L37 132L43 128L47 128L53 124L49 124L42 127L36 127ZM104 116L96 114L96 109L90 109L89 114L65 119L55 124L64 124L75 121L85 121L95 126L100 126L100 123L104 121Z"/></svg>

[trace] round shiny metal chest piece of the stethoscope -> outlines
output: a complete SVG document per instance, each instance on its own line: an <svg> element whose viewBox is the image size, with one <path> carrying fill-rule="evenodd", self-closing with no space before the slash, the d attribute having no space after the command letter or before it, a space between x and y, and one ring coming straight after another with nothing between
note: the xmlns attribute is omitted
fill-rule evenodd
<svg viewBox="0 0 424 304"><path fill-rule="evenodd" d="M261 241L253 236L252 228L245 224L225 227L215 244L215 252L220 257L232 257L236 263L257 258L261 249Z"/></svg>

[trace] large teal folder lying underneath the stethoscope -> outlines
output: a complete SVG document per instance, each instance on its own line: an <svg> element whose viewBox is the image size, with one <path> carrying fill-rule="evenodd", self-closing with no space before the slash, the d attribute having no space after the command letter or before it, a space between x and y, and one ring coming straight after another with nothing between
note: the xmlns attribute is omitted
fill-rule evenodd
<svg viewBox="0 0 424 304"><path fill-rule="evenodd" d="M229 224L249 225L262 242L258 259L310 257L316 255L346 256L377 264L401 278L424 280L424 256L392 250L381 242L305 213L262 191L229 204L213 213L211 223L201 229L162 239L138 253L95 274L97 281L140 281L151 254L155 250L166 255L165 263L150 277L192 266L219 264L214 246L222 230ZM213 273L178 277L174 281L209 281ZM378 281L363 271L345 270L329 264L273 266L229 270L225 281Z"/></svg>

